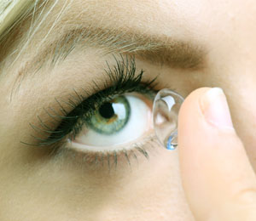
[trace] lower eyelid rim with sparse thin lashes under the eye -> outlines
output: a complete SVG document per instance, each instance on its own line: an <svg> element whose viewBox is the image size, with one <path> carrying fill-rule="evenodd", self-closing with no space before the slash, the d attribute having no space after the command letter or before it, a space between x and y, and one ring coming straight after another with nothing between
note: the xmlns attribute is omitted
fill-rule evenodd
<svg viewBox="0 0 256 221"><path fill-rule="evenodd" d="M130 150L119 150L119 151L109 151L109 152L90 152L90 151L78 151L72 148L67 148L67 144L62 144L61 147L55 149L55 154L53 155L55 161L74 161L80 167L90 168L91 170L96 170L97 167L107 168L108 171L111 169L117 169L119 166L119 161L126 161L129 167L133 161L139 162L141 156L149 160L150 152L158 144L158 141L154 133L145 137L141 142L132 144L133 148ZM123 163L121 163L123 167Z"/></svg>

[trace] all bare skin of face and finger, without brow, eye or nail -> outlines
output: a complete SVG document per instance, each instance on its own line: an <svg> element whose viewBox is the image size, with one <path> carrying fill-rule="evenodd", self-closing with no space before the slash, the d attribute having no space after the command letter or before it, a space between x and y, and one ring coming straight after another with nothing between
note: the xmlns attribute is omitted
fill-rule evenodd
<svg viewBox="0 0 256 221"><path fill-rule="evenodd" d="M57 5L54 12L59 12L61 5L63 3ZM92 0L88 4L75 1L69 7L57 28L64 23L75 26L75 22L88 24L88 20L93 20L96 25L137 29L147 35L165 35L203 45L207 48L206 65L198 70L183 70L137 58L137 68L145 70L146 79L161 73L160 88L175 88L184 97L201 89L190 94L183 104L178 150L169 152L156 143L152 144L154 148L145 145L149 160L137 155L137 160L131 157L131 166L120 157L118 166L115 168L112 162L109 170L106 162L102 166L91 166L90 161L49 155L49 149L20 144L20 140L31 138L33 131L29 122L37 122L37 115L49 121L43 108L56 108L55 98L67 99L73 88L90 88L93 79L103 81L105 61L113 61L111 55L99 55L101 48L90 47L82 52L75 49L50 72L42 68L34 77L24 78L10 101L12 87L9 85L14 84L21 67L35 55L35 48L40 46L42 36L55 20L54 12L49 14L48 22L32 38L15 65L9 65L12 57L7 57L3 65L6 75L0 78L0 219L235 220L230 217L230 211L239 211L240 217L235 216L237 220L244 220L245 214L250 214L253 220L255 217L249 211L255 208L256 190L253 173L256 169L254 1ZM26 33L29 24L27 20L21 31ZM58 31L51 32L45 42L56 35ZM14 48L21 48L22 39L25 37L16 39L9 54ZM84 77L84 73L90 74ZM215 129L203 122L196 105L209 88L202 87L224 89L236 133ZM214 152L216 146L221 148ZM201 161L203 167L195 167L196 161ZM244 168L240 173L236 164ZM227 165L234 167L226 169ZM214 182L206 181L209 174ZM221 182L224 180L226 182ZM234 180L239 181L235 189ZM239 194L234 197L236 192ZM241 192L247 197L240 195ZM241 205L245 205L245 209L241 209Z"/></svg>

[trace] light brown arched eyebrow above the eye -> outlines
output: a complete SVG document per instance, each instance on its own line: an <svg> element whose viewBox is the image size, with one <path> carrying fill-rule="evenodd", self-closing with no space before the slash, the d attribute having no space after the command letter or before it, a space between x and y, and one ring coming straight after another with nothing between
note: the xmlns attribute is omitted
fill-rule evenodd
<svg viewBox="0 0 256 221"><path fill-rule="evenodd" d="M87 47L102 48L106 54L136 55L153 64L177 69L198 70L206 65L206 48L190 41L148 35L139 31L84 27L62 32L28 61L20 72L38 70L47 62L56 65L66 59L75 48L86 50Z"/></svg>

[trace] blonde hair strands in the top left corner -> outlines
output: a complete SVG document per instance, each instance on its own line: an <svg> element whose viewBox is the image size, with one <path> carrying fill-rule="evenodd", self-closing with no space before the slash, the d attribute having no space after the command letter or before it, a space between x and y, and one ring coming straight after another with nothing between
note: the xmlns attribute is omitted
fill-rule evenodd
<svg viewBox="0 0 256 221"><path fill-rule="evenodd" d="M32 40L34 32L39 29L39 17L45 20L48 16L48 7L45 6L57 1L0 0L0 77L4 67L12 66ZM43 12L44 16L41 16ZM30 20L30 25L25 27L26 20ZM24 32L24 28L29 30Z"/></svg>

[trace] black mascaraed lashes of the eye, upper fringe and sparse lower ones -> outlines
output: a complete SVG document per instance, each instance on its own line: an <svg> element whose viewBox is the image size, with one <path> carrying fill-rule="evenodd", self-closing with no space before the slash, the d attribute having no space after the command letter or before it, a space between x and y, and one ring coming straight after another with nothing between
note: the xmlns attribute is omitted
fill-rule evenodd
<svg viewBox="0 0 256 221"><path fill-rule="evenodd" d="M29 144L29 145L36 145L36 146L50 146L53 150L58 150L61 146L65 146L67 142L67 135L70 136L69 138L74 139L77 134L79 134L81 128L83 127L84 123L88 122L90 116L93 115L96 108L101 106L104 102L108 101L109 99L113 99L113 96L125 93L132 93L138 92L140 94L148 95L149 97L153 98L154 94L156 93L157 83L155 82L156 77L153 80L142 82L143 78L143 70L136 76L136 62L133 57L124 59L121 56L121 59L116 59L116 65L113 66L113 69L110 68L108 65L108 70L105 70L106 74L108 75L107 81L104 83L103 90L100 90L97 83L93 82L95 91L98 91L96 94L90 95L89 93L82 88L84 94L88 97L84 99L84 95L79 95L76 90L73 89L74 94L70 94L70 98L65 101L61 100L63 104L69 105L73 111L68 112L61 102L58 99L55 99L57 105L60 107L61 114L58 114L55 109L50 108L47 110L47 115L54 121L55 125L58 123L58 126L55 129L49 127L49 124L45 124L43 120L38 116L38 121L40 127L34 126L30 123L32 129L39 134L49 134L48 138L42 139L39 136L32 135L32 138L37 140L38 144ZM109 85L111 85L109 87ZM61 120L61 122L60 122ZM65 139L66 138L66 139ZM150 138L150 142L153 139ZM149 140L145 140L144 144L148 143ZM25 142L21 142L23 144L27 144ZM137 145L135 148L138 152L142 153L143 156L148 158L148 153L146 150L143 149L143 145ZM62 150L64 148L61 148ZM124 152L124 156L126 160L129 162L129 157L127 152ZM137 158L135 153L133 152L133 156ZM95 156L97 159L99 156ZM116 162L117 153L113 152L113 161ZM108 155L108 165L109 165L109 155Z"/></svg>

